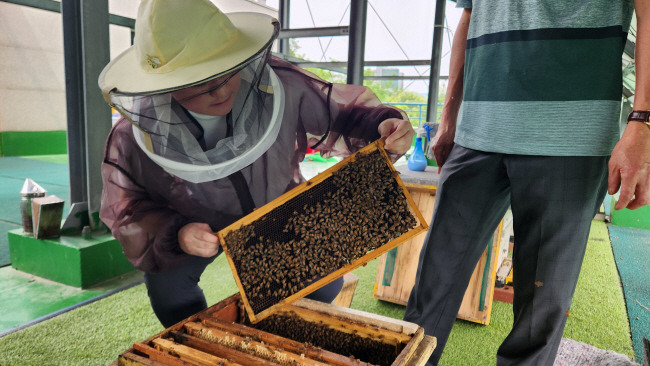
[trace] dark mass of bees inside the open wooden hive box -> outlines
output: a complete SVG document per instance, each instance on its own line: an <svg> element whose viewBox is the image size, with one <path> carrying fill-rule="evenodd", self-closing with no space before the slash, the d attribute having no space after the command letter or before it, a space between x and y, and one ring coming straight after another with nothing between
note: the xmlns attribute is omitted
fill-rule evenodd
<svg viewBox="0 0 650 366"><path fill-rule="evenodd" d="M379 366L390 366L404 348L403 344L394 346L342 332L292 313L274 314L248 326Z"/></svg>

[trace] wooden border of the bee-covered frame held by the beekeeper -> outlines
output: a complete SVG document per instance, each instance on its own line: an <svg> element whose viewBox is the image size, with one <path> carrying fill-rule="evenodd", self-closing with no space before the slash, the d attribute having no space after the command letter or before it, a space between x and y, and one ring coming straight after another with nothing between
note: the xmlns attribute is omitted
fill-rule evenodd
<svg viewBox="0 0 650 366"><path fill-rule="evenodd" d="M374 143L364 147L363 149L359 150L357 153L345 158L335 166L327 169L326 171L322 172L321 174L317 175L316 177L300 184L299 186L295 187L291 191L279 196L275 200L269 202L268 204L256 209L249 215L245 216L244 218L238 220L237 222L231 224L230 226L224 228L223 230L218 232L218 236L220 239L220 243L223 247L224 253L226 254L226 258L228 260L228 263L230 264L230 267L233 272L233 276L235 278L235 282L237 283L237 286L239 288L239 291L242 296L242 301L244 304L244 308L246 309L246 312L248 313L249 319L252 323L256 323L265 317L271 315L278 309L306 296L307 294L325 286L326 284L336 280L337 278L343 276L345 273L348 273L352 271L353 269L360 267L362 265L365 265L369 261L379 257L380 255L386 253L387 251L399 246L400 244L406 242L407 240L411 239L412 237L420 234L422 231L425 231L428 228L428 225L426 223L426 220L422 217L422 214L418 210L417 205L411 198L411 195L408 192L408 189L402 182L402 180L399 177L399 173L395 170L393 167L393 164L388 157L386 151L383 149L384 146L384 141L382 139L375 141ZM267 214L272 214L274 210L278 209L280 206L283 204L289 202L292 200L294 197L303 194L309 190L312 190L316 187L318 187L319 184L323 183L326 181L328 178L330 178L333 174L335 174L337 171L340 169L348 166L350 163L356 161L362 154L370 154L373 152L378 151L381 154L382 159L384 160L384 163L386 165L386 169L391 170L392 177L395 179L395 182L399 186L401 193L404 195L406 199L406 204L408 205L408 209L411 212L411 214L415 217L416 220L416 225L412 229L410 229L407 232L401 233L399 236L393 238L392 240L388 241L387 243L383 243L383 245L377 247L376 249L367 252L365 255L361 256L360 258L352 261L351 263L346 264L345 266L338 268L337 270L329 273L326 276L321 277L319 280L309 284L308 286L298 290L297 292L292 293L290 296L282 298L279 302L264 308L263 310L259 312L255 312L253 307L251 306L250 299L249 299L249 294L246 293L246 289L242 285L241 281L241 276L245 276L245 273L239 273L235 263L233 261L233 258L230 253L230 248L229 248L229 242L227 240L227 235L233 231L240 230L242 227L246 225L251 225L252 223L256 222L257 220L263 218Z"/></svg>

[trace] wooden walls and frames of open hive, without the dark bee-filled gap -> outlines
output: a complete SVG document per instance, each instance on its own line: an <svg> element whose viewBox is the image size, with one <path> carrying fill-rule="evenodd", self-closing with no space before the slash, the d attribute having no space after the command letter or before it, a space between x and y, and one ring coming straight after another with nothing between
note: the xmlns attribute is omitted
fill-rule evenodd
<svg viewBox="0 0 650 366"><path fill-rule="evenodd" d="M416 324L300 299L282 310L337 331L395 346L399 353L386 359L391 366L423 366L436 339ZM280 313L279 313L280 314ZM178 324L135 342L118 357L119 366L279 364L308 366L372 366L350 355L326 350L241 324L245 314L239 293ZM393 359L394 358L394 359Z"/></svg>

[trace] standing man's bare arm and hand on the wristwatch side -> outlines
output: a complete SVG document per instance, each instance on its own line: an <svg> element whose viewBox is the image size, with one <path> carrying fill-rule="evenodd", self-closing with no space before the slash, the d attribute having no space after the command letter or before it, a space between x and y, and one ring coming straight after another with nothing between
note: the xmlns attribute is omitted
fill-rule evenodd
<svg viewBox="0 0 650 366"><path fill-rule="evenodd" d="M635 49L635 110L650 110L650 4L634 1L637 36ZM617 210L650 204L650 128L639 122L627 124L609 161L609 194L620 188Z"/></svg>

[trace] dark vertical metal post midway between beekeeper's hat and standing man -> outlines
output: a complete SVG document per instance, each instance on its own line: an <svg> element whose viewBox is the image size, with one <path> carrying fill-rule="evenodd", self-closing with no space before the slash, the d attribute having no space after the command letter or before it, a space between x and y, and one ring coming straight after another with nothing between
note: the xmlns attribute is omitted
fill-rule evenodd
<svg viewBox="0 0 650 366"><path fill-rule="evenodd" d="M348 84L363 85L368 0L351 0L348 45Z"/></svg>

